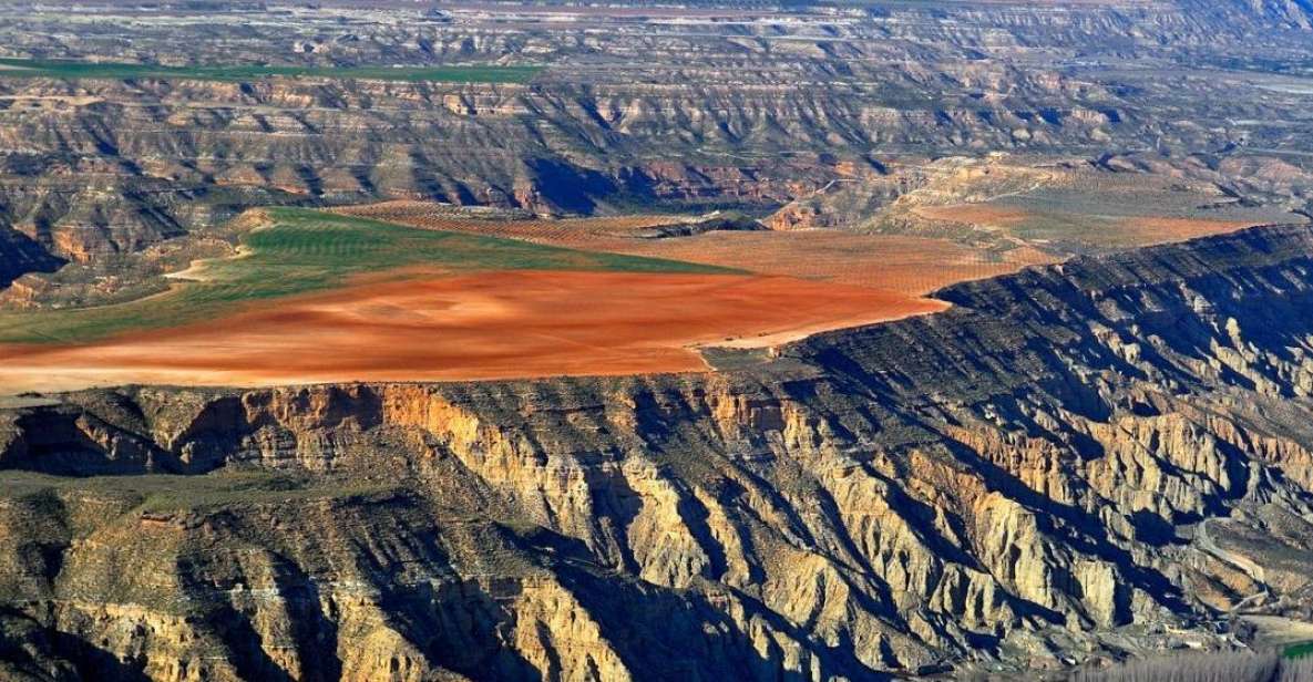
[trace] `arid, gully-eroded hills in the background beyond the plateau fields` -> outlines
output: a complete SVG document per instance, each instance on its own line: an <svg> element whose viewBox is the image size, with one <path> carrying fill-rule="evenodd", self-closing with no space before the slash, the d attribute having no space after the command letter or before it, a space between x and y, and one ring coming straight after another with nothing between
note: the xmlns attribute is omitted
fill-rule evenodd
<svg viewBox="0 0 1313 682"><path fill-rule="evenodd" d="M0 283L85 302L265 205L765 215L856 181L861 222L994 152L1280 211L1313 188L1299 3L685 12L5 3L0 244L26 256L0 247Z"/></svg>

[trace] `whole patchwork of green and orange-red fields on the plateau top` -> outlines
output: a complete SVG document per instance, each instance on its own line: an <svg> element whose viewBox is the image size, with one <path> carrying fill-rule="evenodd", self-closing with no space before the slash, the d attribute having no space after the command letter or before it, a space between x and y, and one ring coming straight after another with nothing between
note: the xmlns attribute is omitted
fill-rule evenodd
<svg viewBox="0 0 1313 682"><path fill-rule="evenodd" d="M702 371L699 346L932 312L924 291L1015 266L911 237L635 236L671 220L268 210L163 294L0 313L0 392Z"/></svg>

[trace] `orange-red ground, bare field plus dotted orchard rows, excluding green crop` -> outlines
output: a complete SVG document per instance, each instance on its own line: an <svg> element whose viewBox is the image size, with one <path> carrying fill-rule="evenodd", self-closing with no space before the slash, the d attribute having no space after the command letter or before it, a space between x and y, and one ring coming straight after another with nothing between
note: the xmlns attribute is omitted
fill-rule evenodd
<svg viewBox="0 0 1313 682"><path fill-rule="evenodd" d="M639 239L670 216L471 220L420 202L343 212L428 230L755 274L385 273L222 320L81 346L0 346L0 393L123 383L259 386L700 371L700 345L767 346L934 312L958 282L1052 262L941 239L832 231ZM386 278L386 279L385 279Z"/></svg>

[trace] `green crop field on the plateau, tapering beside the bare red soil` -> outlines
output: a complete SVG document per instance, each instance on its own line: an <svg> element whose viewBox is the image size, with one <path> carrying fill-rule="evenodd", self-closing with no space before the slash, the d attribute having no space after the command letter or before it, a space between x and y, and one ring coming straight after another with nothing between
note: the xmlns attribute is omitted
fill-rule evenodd
<svg viewBox="0 0 1313 682"><path fill-rule="evenodd" d="M196 277L143 299L96 308L0 312L0 342L71 344L231 312L247 302L322 291L352 275L408 266L452 273L591 270L734 273L723 268L548 247L326 214L269 209L272 226L243 235L243 254L205 262ZM406 277L404 271L398 277Z"/></svg>

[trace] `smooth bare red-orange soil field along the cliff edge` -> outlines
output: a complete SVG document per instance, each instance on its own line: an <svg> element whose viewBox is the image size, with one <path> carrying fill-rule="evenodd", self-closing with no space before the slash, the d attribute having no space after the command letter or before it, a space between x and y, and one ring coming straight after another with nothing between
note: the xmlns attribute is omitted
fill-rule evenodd
<svg viewBox="0 0 1313 682"><path fill-rule="evenodd" d="M508 270L273 302L79 346L0 346L4 392L704 371L697 345L768 345L941 302L771 275Z"/></svg>

